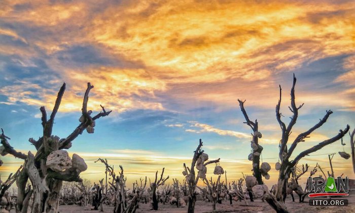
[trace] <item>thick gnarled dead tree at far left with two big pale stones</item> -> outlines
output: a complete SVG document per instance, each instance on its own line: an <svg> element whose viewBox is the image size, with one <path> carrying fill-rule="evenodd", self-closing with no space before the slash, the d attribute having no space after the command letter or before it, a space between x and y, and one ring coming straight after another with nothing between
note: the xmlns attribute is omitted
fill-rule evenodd
<svg viewBox="0 0 355 213"><path fill-rule="evenodd" d="M57 212L59 205L59 194L62 181L80 182L80 172L87 168L84 160L78 155L73 155L73 160L69 158L67 151L72 146L72 141L82 134L86 129L88 133L94 132L95 120L100 117L108 116L110 112L106 112L101 106L102 111L94 117L91 117L92 111L87 110L89 92L93 86L88 83L84 94L82 117L79 119L80 124L67 137L60 139L58 136L52 135L55 115L58 112L59 105L65 90L65 83L60 88L57 99L54 104L53 111L47 119L45 107L41 107L43 135L38 139L29 139L29 142L37 150L34 155L29 151L28 154L17 152L10 146L4 131L1 134L1 144L5 153L14 157L23 159L23 169L21 170L16 181L18 187L17 211L24 211L27 206L27 195L25 195L25 186L27 181L33 186L33 206L32 212ZM61 161L62 164L58 164Z"/></svg>

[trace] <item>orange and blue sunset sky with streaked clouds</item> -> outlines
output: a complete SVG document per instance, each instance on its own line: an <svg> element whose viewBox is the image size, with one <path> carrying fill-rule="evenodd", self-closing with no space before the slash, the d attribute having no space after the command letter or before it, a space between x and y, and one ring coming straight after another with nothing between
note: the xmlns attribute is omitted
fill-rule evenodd
<svg viewBox="0 0 355 213"><path fill-rule="evenodd" d="M88 164L81 177L97 182L101 157L127 182L165 176L183 179L199 138L209 159L221 158L228 182L252 174L251 129L237 99L263 134L262 162L278 173L281 130L275 117L278 86L288 123L290 89L304 103L289 143L326 110L328 122L298 145L294 156L355 127L355 5L352 1L22 1L0 6L0 127L11 146L35 152L28 138L42 133L40 106L49 113L63 82L66 91L53 134L63 138L79 124L87 82L88 108L113 112L96 121L68 150ZM303 158L335 175L355 178L349 135ZM292 158L294 157L292 156ZM23 161L2 157L1 176ZM207 176L213 176L209 165ZM116 171L118 171L116 169ZM308 173L307 173L308 174ZM301 179L306 181L306 177Z"/></svg>

